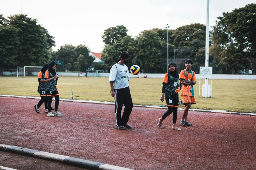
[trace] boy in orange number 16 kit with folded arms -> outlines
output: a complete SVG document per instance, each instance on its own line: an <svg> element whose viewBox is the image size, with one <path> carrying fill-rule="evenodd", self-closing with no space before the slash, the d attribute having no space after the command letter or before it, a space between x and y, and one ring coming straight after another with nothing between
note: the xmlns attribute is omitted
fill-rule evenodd
<svg viewBox="0 0 256 170"><path fill-rule="evenodd" d="M182 126L193 126L191 123L187 121L188 117L188 109L191 105L196 104L196 99L194 96L194 88L193 85L196 84L196 74L191 70L191 66L193 65L192 60L187 59L185 61L186 69L181 70L179 79L182 83L181 88L181 97L183 105L185 105L184 112L180 123Z"/></svg>

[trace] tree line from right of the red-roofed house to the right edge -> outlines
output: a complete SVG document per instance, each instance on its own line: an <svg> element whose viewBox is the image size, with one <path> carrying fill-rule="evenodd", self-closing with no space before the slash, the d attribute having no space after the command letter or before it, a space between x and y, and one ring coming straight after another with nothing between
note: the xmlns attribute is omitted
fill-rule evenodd
<svg viewBox="0 0 256 170"><path fill-rule="evenodd" d="M252 69L255 74L256 5L223 12L215 22L209 40L209 66L213 66L215 74L238 74L244 69ZM118 61L122 51L128 51L131 55L128 67L137 64L144 72L156 73L156 68L160 68L157 73L166 72L167 29L145 30L135 37L127 35L127 31L123 25L104 31L102 60L107 68ZM184 67L183 60L190 58L194 67L204 66L205 35L206 27L199 23L168 30L169 62L174 61L175 55L177 65ZM179 50L174 54L174 49Z"/></svg>

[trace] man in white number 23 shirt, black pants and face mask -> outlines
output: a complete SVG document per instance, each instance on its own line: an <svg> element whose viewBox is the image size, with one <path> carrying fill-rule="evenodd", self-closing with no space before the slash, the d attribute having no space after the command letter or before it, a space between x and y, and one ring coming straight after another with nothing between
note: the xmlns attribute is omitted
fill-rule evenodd
<svg viewBox="0 0 256 170"><path fill-rule="evenodd" d="M125 127L129 129L131 128L127 122L129 120L133 104L128 83L130 80L129 69L125 65L128 63L129 58L130 55L128 52L122 52L119 55L120 61L111 67L109 75L111 96L115 98L116 128L120 130L124 130ZM123 105L125 108L121 118Z"/></svg>

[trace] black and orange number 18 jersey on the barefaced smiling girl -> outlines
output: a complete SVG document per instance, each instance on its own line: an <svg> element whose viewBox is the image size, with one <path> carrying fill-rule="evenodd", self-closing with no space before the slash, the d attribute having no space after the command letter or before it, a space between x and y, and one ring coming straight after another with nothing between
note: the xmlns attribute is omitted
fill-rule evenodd
<svg viewBox="0 0 256 170"><path fill-rule="evenodd" d="M163 78L163 85L165 85L165 89L162 89L162 92L165 93L165 97L176 94L175 90L179 87L179 78L174 78L171 74L166 73Z"/></svg>

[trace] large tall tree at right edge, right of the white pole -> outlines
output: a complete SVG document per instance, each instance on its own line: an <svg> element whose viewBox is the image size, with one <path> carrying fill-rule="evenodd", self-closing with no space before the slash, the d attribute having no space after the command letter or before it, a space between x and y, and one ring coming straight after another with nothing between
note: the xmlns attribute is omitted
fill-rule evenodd
<svg viewBox="0 0 256 170"><path fill-rule="evenodd" d="M213 46L219 47L220 63L226 67L227 72L231 67L232 74L243 68L248 68L248 57L255 57L256 50L256 5L249 4L245 7L223 13L218 17L213 27ZM221 44L221 45L218 45ZM218 49L218 48L217 48Z"/></svg>

